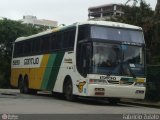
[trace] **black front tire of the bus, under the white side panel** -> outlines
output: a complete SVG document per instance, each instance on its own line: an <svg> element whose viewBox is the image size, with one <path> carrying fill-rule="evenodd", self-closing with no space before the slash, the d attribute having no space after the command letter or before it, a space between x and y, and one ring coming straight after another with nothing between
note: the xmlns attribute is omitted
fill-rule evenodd
<svg viewBox="0 0 160 120"><path fill-rule="evenodd" d="M74 101L72 81L68 80L64 84L64 96L68 101Z"/></svg>

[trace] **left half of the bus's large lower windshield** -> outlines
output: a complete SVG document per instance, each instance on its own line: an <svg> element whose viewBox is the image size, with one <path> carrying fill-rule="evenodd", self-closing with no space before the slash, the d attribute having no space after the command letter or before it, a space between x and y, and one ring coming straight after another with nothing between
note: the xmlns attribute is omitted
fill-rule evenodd
<svg viewBox="0 0 160 120"><path fill-rule="evenodd" d="M118 65L121 61L120 45L93 43L92 72L99 74L119 74Z"/></svg>

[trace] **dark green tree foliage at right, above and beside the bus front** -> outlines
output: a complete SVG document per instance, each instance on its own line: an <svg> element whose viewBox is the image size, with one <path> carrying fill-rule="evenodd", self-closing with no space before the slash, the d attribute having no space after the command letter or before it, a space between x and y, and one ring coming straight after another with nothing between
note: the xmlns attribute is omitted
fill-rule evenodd
<svg viewBox="0 0 160 120"><path fill-rule="evenodd" d="M123 6L124 15L112 18L112 21L118 21L122 23L128 23L136 26L140 26L144 31L144 38L146 42L146 48L150 51L150 63L148 64L160 64L159 57L160 51L160 21L155 16L149 4L145 0L140 0L140 6Z"/></svg>

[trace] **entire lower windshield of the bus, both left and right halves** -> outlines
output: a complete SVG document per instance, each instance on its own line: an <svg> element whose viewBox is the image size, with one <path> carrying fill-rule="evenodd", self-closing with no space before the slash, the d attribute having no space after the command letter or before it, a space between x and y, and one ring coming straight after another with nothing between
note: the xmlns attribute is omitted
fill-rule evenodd
<svg viewBox="0 0 160 120"><path fill-rule="evenodd" d="M91 73L144 76L142 47L93 42Z"/></svg>

